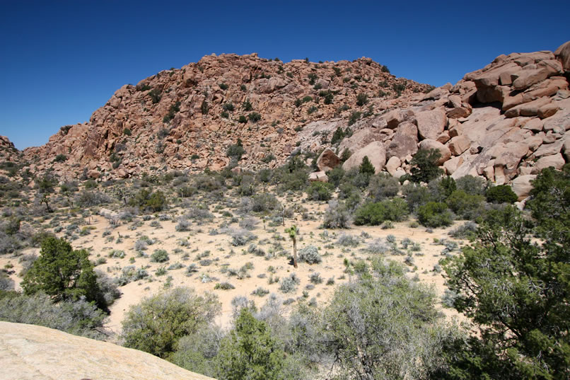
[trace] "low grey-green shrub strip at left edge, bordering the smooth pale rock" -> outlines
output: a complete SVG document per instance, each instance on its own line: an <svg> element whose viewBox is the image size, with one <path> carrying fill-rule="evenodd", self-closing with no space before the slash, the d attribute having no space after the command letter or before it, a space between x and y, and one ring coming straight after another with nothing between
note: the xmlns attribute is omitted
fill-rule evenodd
<svg viewBox="0 0 570 380"><path fill-rule="evenodd" d="M103 340L107 315L85 299L54 302L43 293L0 292L0 321L28 323Z"/></svg>

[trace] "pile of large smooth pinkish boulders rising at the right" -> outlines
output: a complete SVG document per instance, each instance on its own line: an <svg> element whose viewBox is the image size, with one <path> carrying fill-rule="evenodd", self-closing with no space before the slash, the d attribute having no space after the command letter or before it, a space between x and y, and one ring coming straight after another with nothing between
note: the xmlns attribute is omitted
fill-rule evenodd
<svg viewBox="0 0 570 380"><path fill-rule="evenodd" d="M555 53L496 57L455 86L435 88L357 129L354 135L376 138L365 147L343 142L339 151L353 152L343 167L356 166L366 150L369 158L385 156L386 171L399 177L418 149L437 149L446 174L498 185L520 176L514 185L524 197L529 178L569 162L569 64L570 42Z"/></svg>

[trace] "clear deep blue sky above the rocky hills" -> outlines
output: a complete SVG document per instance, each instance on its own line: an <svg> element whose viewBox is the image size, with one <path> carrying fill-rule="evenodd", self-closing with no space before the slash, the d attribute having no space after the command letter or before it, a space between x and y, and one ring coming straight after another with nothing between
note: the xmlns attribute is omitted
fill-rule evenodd
<svg viewBox="0 0 570 380"><path fill-rule="evenodd" d="M123 84L212 52L371 57L441 86L502 53L556 49L569 14L568 0L0 0L0 134L18 149L45 144Z"/></svg>

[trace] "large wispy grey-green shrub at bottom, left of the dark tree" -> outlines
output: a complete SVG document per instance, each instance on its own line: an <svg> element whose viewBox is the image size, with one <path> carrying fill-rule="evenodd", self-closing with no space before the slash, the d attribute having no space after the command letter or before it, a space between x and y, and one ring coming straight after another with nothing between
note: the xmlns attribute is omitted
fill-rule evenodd
<svg viewBox="0 0 570 380"><path fill-rule="evenodd" d="M339 378L427 378L442 364L441 340L454 330L437 324L436 295L408 280L400 265L374 260L373 272L363 268L361 280L341 285L323 313Z"/></svg>

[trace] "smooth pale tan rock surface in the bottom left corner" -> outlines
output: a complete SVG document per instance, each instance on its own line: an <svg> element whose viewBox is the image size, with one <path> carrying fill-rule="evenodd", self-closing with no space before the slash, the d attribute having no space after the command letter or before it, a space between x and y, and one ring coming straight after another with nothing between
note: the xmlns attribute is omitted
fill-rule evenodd
<svg viewBox="0 0 570 380"><path fill-rule="evenodd" d="M0 321L4 380L208 380L146 352L52 330Z"/></svg>

